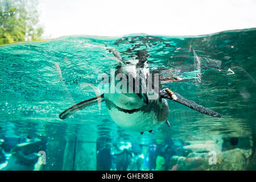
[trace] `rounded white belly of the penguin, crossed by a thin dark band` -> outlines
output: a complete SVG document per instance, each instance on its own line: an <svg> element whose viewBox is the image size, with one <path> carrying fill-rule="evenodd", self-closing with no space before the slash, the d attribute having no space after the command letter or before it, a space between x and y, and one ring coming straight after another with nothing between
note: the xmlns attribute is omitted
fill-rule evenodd
<svg viewBox="0 0 256 182"><path fill-rule="evenodd" d="M127 109L127 106L120 108L119 106L121 106L121 104L118 106L115 105L117 100L112 102L112 100L108 100L109 98L112 97L106 96L106 105L108 106L109 115L113 121L123 129L137 132L150 131L161 125L167 119L168 104L166 100L150 101L148 105L143 104L143 106L141 102L138 102L138 105L134 105L136 111L130 111L133 108L123 111L121 108Z"/></svg>

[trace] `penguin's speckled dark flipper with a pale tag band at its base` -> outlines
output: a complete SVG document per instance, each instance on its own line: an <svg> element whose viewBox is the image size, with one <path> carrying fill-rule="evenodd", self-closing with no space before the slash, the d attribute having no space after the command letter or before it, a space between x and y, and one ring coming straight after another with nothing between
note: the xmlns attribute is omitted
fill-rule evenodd
<svg viewBox="0 0 256 182"><path fill-rule="evenodd" d="M196 104L196 102L193 102L191 100L188 100L187 98L184 98L183 96L180 96L180 94L172 92L170 89L163 89L159 92L161 98L168 98L170 100L179 102L180 104L183 104L185 106L188 106L189 108L199 111L200 113L211 115L213 117L221 118L221 114L207 109L204 106L201 106L199 104Z"/></svg>

